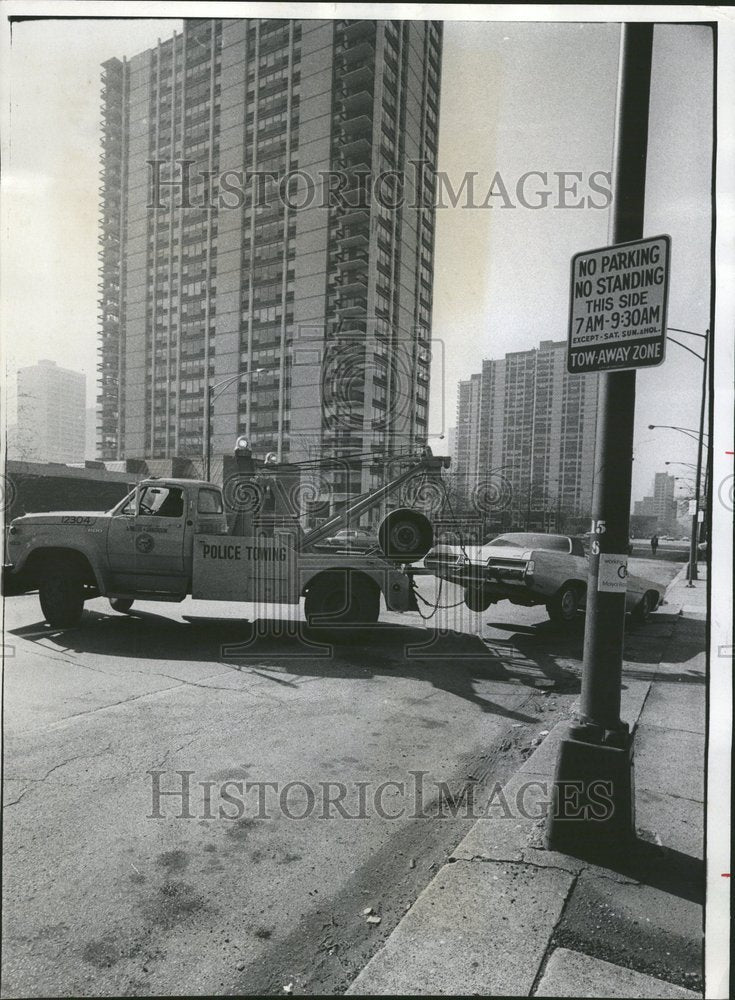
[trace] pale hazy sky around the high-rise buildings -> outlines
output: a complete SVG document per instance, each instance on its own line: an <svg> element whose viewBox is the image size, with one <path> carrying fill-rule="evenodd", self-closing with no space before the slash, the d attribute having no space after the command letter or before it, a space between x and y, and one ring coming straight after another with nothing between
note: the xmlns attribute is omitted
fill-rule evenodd
<svg viewBox="0 0 735 1000"><path fill-rule="evenodd" d="M12 240L3 265L6 364L12 373L50 358L83 371L89 405L96 396L100 64L148 48L180 24L49 19L13 28L3 177ZM467 199L460 199L437 210L436 452L446 450L455 422L457 382L479 371L483 358L566 339L570 259L608 241L609 212L590 204L604 202L590 185L595 174L604 185L599 174L610 169L617 60L612 24L445 22L438 166L455 189L476 172L476 204L494 178L496 194L487 199L491 208L462 207ZM711 87L708 29L657 27L644 233L671 235L669 325L695 332L709 323ZM530 171L545 174L546 183L532 175L526 201L542 204L546 190L545 207L524 207L518 197ZM581 173L576 193L560 193L560 172ZM580 198L580 208L562 204ZM695 349L702 343L681 339ZM648 424L697 427L701 372L701 362L670 343L662 366L638 373L634 497L650 492L664 461L695 460L694 441Z"/></svg>

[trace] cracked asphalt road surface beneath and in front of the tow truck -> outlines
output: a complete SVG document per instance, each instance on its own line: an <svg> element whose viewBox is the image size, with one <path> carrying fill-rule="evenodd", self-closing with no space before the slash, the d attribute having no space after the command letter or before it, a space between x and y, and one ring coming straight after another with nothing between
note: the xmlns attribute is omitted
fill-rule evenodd
<svg viewBox="0 0 735 1000"><path fill-rule="evenodd" d="M6 602L3 996L341 992L579 690L582 616L284 613Z"/></svg>

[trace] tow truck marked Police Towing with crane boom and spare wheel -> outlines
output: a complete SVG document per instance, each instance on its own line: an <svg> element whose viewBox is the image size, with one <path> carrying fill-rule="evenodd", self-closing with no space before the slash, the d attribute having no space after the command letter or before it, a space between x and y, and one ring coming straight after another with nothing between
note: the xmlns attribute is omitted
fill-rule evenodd
<svg viewBox="0 0 735 1000"><path fill-rule="evenodd" d="M233 513L225 494L286 496L287 473L294 469L274 460L258 464L242 439L235 454L238 471L224 491L200 480L151 478L107 512L15 518L4 574L22 577L20 589L38 589L43 615L54 628L79 625L84 602L99 596L123 613L137 600L179 602L188 595L292 605L304 597L306 619L317 627L376 622L381 595L391 611L416 610L410 566L433 541L431 523L420 511L390 510L372 551L319 543L412 477L441 480L450 459L427 448L385 486L305 530L293 504L284 503L286 515L271 519L260 515L258 503L235 503Z"/></svg>

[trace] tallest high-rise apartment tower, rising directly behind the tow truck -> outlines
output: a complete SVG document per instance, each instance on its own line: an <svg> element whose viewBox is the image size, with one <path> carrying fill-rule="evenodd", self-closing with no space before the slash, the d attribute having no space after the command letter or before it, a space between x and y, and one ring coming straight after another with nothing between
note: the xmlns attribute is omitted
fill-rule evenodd
<svg viewBox="0 0 735 1000"><path fill-rule="evenodd" d="M425 442L441 47L433 21L195 19L104 64L101 457L201 455L208 385L213 454Z"/></svg>

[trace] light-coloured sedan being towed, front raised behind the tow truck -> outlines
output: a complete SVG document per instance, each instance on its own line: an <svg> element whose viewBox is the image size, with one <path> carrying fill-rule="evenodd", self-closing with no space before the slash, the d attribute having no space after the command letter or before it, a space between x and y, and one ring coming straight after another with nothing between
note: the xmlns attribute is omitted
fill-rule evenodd
<svg viewBox="0 0 735 1000"><path fill-rule="evenodd" d="M584 608L589 563L581 538L542 532L508 532L485 545L437 545L425 568L464 589L470 611L498 601L546 605L552 621L572 622ZM626 611L647 621L661 603L658 584L628 574Z"/></svg>

